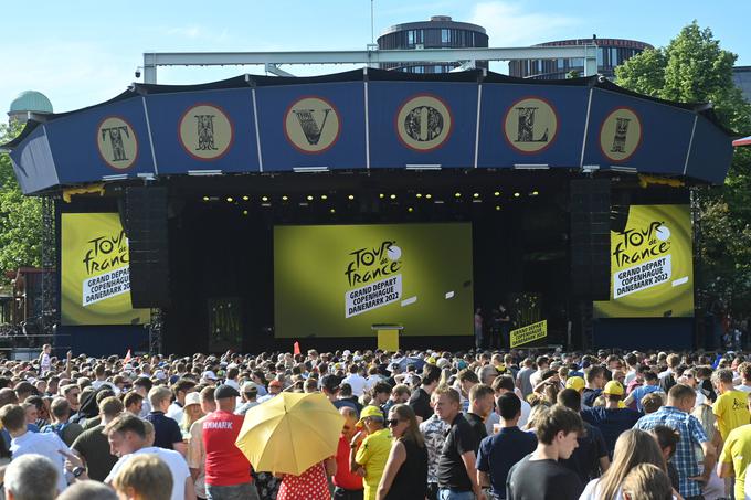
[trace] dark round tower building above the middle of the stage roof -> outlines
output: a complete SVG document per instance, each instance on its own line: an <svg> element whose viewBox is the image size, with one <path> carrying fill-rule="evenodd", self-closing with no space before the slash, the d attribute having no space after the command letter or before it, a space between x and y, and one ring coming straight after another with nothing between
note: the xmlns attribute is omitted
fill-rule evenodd
<svg viewBox="0 0 751 500"><path fill-rule="evenodd" d="M433 15L429 21L395 24L378 38L379 50L396 49L468 49L487 47L488 35L485 28L467 22L456 22L448 15ZM388 63L382 70L396 70L405 73L447 73L458 63ZM487 62L477 63L487 67Z"/></svg>

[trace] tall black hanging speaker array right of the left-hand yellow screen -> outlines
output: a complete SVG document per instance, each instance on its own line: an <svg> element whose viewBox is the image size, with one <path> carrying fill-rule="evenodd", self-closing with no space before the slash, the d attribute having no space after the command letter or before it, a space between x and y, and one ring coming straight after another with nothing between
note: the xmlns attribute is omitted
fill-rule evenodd
<svg viewBox="0 0 751 500"><path fill-rule="evenodd" d="M130 254L133 307L166 307L169 304L167 188L126 189L125 233Z"/></svg>

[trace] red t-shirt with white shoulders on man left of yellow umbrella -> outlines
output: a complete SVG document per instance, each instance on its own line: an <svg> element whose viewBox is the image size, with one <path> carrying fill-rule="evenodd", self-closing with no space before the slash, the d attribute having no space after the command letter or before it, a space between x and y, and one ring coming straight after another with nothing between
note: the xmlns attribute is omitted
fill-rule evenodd
<svg viewBox="0 0 751 500"><path fill-rule="evenodd" d="M244 415L218 409L203 421L207 485L232 486L252 481L251 462L234 444L244 419Z"/></svg>

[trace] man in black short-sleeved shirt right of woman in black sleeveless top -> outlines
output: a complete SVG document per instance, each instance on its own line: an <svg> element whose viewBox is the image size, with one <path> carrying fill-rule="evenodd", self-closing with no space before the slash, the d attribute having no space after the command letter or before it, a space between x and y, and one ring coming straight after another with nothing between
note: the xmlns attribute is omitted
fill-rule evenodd
<svg viewBox="0 0 751 500"><path fill-rule="evenodd" d="M445 385L438 386L435 392L435 413L449 426L438 458L438 498L461 500L474 493L482 500L485 493L477 482L475 469L477 436L459 412L459 393Z"/></svg>

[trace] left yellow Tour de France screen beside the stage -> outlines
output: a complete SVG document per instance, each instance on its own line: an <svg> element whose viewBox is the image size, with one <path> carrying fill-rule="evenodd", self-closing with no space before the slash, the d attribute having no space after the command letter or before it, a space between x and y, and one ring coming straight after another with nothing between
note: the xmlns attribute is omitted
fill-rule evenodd
<svg viewBox="0 0 751 500"><path fill-rule="evenodd" d="M62 214L62 323L142 325L130 305L128 238L117 213Z"/></svg>

